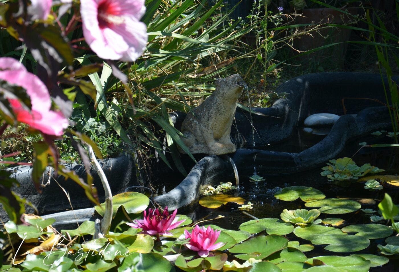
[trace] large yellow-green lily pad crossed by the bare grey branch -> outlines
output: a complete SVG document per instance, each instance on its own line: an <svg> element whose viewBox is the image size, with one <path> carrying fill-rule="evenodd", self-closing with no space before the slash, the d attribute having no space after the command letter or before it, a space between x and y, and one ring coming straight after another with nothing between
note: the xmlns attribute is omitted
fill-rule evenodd
<svg viewBox="0 0 399 272"><path fill-rule="evenodd" d="M112 202L112 217L115 217L120 206L123 206L127 213L141 213L148 207L148 204L150 204L150 199L138 192L125 192L113 196ZM97 213L104 216L105 203L102 203L100 206L95 206L94 208Z"/></svg>

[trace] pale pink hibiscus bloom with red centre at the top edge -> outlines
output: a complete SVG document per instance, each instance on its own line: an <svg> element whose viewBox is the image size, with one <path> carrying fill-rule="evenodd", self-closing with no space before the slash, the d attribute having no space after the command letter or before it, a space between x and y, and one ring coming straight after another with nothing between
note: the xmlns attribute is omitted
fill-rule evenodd
<svg viewBox="0 0 399 272"><path fill-rule="evenodd" d="M144 0L81 0L83 35L103 59L136 61L147 44Z"/></svg>

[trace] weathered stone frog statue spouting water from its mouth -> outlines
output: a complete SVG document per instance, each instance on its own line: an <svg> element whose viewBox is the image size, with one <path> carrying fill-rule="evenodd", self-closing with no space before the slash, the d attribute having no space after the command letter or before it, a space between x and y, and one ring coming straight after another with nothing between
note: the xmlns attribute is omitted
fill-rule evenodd
<svg viewBox="0 0 399 272"><path fill-rule="evenodd" d="M230 131L245 82L241 76L233 74L217 79L215 84L213 94L189 112L182 123L182 140L193 154L221 155L236 149Z"/></svg>

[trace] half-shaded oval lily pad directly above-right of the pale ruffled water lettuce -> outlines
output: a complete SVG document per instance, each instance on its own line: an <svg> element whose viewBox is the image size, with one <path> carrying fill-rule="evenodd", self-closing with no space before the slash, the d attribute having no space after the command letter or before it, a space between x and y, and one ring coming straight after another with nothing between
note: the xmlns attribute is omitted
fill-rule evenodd
<svg viewBox="0 0 399 272"><path fill-rule="evenodd" d="M320 207L319 211L328 214L351 213L361 208L359 202L349 199L326 198L305 203L306 207Z"/></svg>

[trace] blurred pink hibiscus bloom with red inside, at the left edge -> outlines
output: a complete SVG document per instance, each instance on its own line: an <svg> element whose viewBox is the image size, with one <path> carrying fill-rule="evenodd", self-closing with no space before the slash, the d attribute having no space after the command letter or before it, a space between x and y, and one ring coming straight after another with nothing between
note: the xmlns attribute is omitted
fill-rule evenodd
<svg viewBox="0 0 399 272"><path fill-rule="evenodd" d="M26 123L49 135L61 136L68 127L68 119L60 112L50 110L51 99L43 82L28 72L16 59L0 58L0 80L17 85L26 90L30 97L32 110L24 108L18 99L8 99L17 121Z"/></svg>

